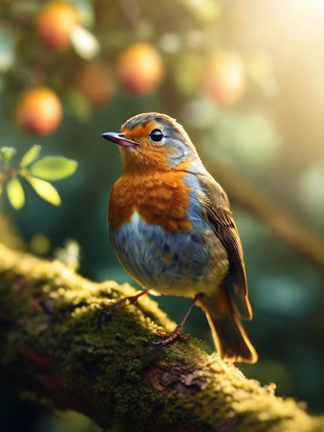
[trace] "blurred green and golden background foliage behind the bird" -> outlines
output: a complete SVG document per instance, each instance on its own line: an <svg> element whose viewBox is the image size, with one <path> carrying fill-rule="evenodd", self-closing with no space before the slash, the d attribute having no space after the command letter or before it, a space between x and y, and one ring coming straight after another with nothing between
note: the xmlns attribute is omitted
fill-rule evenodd
<svg viewBox="0 0 324 432"><path fill-rule="evenodd" d="M33 244L35 235L45 236L51 257L65 239L75 239L81 247L82 275L131 282L112 251L105 216L110 188L120 174L119 153L100 135L118 131L128 117L145 111L177 118L216 179L216 162L234 168L324 237L324 1L70 3L82 12L85 39L74 35L70 48L54 52L41 44L35 30L35 17L45 2L0 1L0 146L12 146L23 155L36 142L44 155L79 162L77 173L57 186L63 202L59 208L30 190L19 211L1 198L1 210L27 244ZM92 48L90 43L84 54L80 46L90 39ZM119 55L135 42L150 43L164 65L161 82L144 95L125 91L119 82ZM224 52L238 56L242 64L244 91L231 104L218 101L204 86L209 59ZM80 70L93 62L104 65L105 79L85 81L97 83L95 90L102 88L100 103L78 81ZM227 88L227 79L222 79L221 88ZM57 92L64 108L61 126L41 138L26 135L14 120L19 95L36 85ZM254 320L245 328L260 358L256 365L240 367L262 384L275 382L280 395L306 400L310 411L323 412L323 271L275 237L256 215L233 200L232 206L254 309ZM159 302L178 322L188 304L175 297L160 297ZM210 340L199 308L185 330ZM26 406L12 393L0 409L8 413L10 404L26 415ZM66 426L70 420L65 426L52 421L45 427L39 420L45 415L39 415L25 431L71 430ZM19 418L17 411L7 419L5 431L20 430L14 418Z"/></svg>

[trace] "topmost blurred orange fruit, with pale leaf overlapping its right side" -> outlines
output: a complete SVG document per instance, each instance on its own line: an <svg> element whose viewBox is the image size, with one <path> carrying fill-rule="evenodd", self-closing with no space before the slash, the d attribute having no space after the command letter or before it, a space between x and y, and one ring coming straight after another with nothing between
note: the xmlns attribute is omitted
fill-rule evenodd
<svg viewBox="0 0 324 432"><path fill-rule="evenodd" d="M65 50L70 46L70 32L79 21L79 12L72 5L51 1L37 17L37 35L46 48Z"/></svg>

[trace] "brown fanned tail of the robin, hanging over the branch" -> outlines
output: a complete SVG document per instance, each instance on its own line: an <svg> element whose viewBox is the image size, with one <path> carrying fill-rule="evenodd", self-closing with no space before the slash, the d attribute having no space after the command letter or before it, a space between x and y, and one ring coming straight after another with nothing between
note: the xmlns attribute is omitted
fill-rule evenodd
<svg viewBox="0 0 324 432"><path fill-rule="evenodd" d="M223 360L255 363L258 355L241 324L239 311L226 286L219 286L212 297L199 300L208 323L217 352Z"/></svg>

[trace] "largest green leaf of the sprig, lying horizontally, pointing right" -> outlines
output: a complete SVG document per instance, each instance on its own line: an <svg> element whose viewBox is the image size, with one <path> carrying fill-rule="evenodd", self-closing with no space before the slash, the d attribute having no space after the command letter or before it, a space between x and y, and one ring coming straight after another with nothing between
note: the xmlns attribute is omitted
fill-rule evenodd
<svg viewBox="0 0 324 432"><path fill-rule="evenodd" d="M45 180L61 180L77 170L78 163L63 156L45 156L30 167L30 174Z"/></svg>

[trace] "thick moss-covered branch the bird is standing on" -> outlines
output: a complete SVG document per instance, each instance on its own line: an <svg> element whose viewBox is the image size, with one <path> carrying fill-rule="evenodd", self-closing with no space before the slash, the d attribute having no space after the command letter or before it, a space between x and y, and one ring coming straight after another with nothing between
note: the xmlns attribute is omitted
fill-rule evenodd
<svg viewBox="0 0 324 432"><path fill-rule="evenodd" d="M174 323L134 289L95 284L59 262L0 245L0 375L58 409L114 431L323 431L274 386L247 380L192 338L156 350Z"/></svg>

